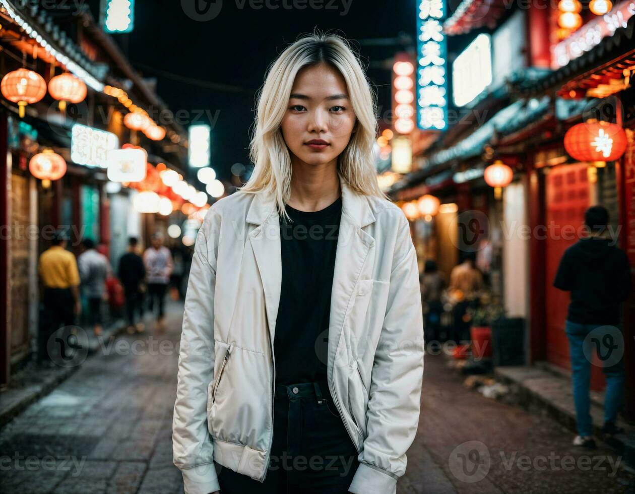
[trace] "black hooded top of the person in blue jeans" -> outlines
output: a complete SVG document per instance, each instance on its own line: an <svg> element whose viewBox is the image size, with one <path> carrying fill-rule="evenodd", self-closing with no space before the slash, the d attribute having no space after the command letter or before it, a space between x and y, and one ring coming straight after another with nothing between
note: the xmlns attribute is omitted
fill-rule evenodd
<svg viewBox="0 0 635 494"><path fill-rule="evenodd" d="M609 239L580 239L560 260L554 286L571 291L567 319L572 323L617 324L620 302L631 291L626 253Z"/></svg>

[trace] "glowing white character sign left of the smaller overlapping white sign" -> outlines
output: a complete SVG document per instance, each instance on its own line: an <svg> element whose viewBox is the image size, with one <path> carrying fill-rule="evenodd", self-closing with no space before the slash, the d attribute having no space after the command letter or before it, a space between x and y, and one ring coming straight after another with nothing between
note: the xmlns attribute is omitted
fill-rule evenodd
<svg viewBox="0 0 635 494"><path fill-rule="evenodd" d="M107 166L107 153L119 147L116 135L105 130L74 124L71 129L70 159L86 166Z"/></svg>

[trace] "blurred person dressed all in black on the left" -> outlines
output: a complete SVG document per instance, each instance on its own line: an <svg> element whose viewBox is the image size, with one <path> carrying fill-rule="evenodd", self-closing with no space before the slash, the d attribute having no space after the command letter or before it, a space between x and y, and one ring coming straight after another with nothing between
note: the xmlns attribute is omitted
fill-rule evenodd
<svg viewBox="0 0 635 494"><path fill-rule="evenodd" d="M137 252L137 237L128 239L128 250L119 259L119 281L123 285L126 297L126 321L128 322L128 333L135 330L143 331L143 306L142 293L145 290L145 266L144 260ZM135 314L138 314L138 321L135 323Z"/></svg>

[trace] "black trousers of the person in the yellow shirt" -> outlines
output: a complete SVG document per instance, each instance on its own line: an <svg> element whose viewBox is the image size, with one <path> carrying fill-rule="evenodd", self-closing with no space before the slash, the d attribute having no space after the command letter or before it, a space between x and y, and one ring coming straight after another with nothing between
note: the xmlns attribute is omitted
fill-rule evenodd
<svg viewBox="0 0 635 494"><path fill-rule="evenodd" d="M45 288L43 302L44 310L40 317L37 335L37 360L39 362L51 360L51 355L46 347L51 335L60 326L74 326L75 324L75 300L69 288Z"/></svg>

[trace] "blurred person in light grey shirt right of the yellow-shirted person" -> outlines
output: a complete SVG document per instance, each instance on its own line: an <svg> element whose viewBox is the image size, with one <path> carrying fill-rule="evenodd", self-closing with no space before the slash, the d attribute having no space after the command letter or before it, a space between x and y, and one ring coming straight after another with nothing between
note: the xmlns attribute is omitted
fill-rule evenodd
<svg viewBox="0 0 635 494"><path fill-rule="evenodd" d="M88 324L93 327L96 336L102 334L102 302L108 300L106 277L110 272L110 263L104 254L95 249L95 241L87 238L82 241L84 251L77 257L81 293L88 302Z"/></svg>

